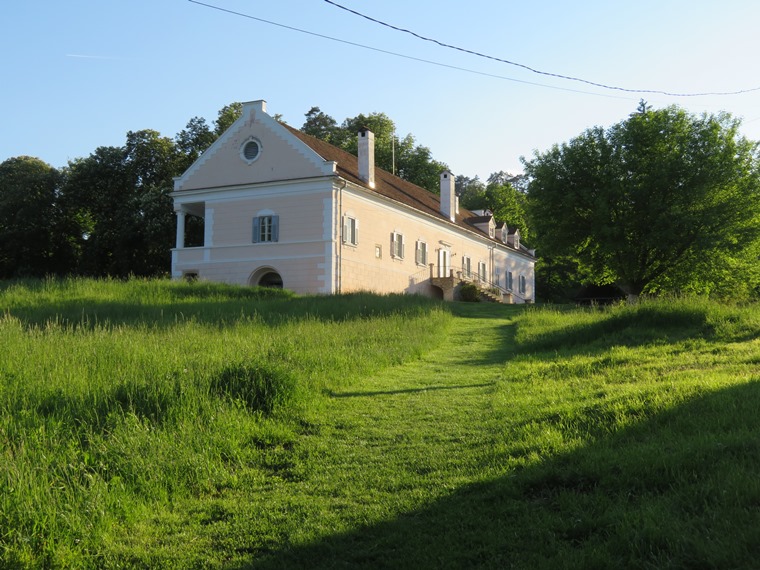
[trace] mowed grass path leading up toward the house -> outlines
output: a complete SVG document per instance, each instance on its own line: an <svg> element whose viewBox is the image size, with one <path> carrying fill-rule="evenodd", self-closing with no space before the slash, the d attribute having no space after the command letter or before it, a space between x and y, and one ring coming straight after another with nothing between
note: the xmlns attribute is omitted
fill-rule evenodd
<svg viewBox="0 0 760 570"><path fill-rule="evenodd" d="M215 548L239 554L231 567L438 568L470 559L424 548L414 513L488 477L493 395L521 309L454 311L460 317L419 360L329 391L305 435L272 450L282 463L260 482L260 504L228 496L211 507ZM469 515L455 507L447 516ZM413 555L400 557L400 544Z"/></svg>

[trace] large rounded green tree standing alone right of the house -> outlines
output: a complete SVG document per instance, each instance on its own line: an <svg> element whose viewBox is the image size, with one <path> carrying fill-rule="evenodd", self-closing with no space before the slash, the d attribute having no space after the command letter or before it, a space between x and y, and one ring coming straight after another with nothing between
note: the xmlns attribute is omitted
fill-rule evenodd
<svg viewBox="0 0 760 570"><path fill-rule="evenodd" d="M629 296L714 288L760 239L758 145L730 115L642 103L525 161L538 247ZM755 260L756 263L757 260Z"/></svg>

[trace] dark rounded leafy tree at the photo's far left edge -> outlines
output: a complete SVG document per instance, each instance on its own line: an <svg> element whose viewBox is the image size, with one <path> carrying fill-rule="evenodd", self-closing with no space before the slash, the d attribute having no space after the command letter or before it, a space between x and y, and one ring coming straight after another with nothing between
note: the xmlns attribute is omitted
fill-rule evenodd
<svg viewBox="0 0 760 570"><path fill-rule="evenodd" d="M74 249L60 181L61 173L38 158L0 164L0 278L69 272Z"/></svg>

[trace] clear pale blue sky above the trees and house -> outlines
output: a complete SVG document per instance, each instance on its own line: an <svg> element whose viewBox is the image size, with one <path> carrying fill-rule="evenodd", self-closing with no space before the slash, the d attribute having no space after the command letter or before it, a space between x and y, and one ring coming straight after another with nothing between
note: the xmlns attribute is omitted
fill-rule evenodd
<svg viewBox="0 0 760 570"><path fill-rule="evenodd" d="M530 67L630 89L760 87L756 0L335 0L418 34ZM639 99L728 111L760 140L760 90L672 97L531 73L424 42L323 0L204 0L393 56L188 0L24 0L0 9L0 161L61 167L127 131L174 136L233 101L266 99L300 127L381 111L455 174L521 170L520 156L609 126ZM450 66L450 67L445 67ZM460 69L453 69L459 67ZM467 70L467 71L464 71ZM500 77L494 77L500 76Z"/></svg>

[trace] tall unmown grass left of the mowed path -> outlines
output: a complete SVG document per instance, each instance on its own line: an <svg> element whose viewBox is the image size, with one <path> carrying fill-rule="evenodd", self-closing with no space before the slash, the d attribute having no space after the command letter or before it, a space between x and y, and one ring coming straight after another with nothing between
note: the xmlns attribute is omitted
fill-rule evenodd
<svg viewBox="0 0 760 570"><path fill-rule="evenodd" d="M418 357L417 297L86 279L0 287L0 564L97 567L188 496L267 470L322 392Z"/></svg>

